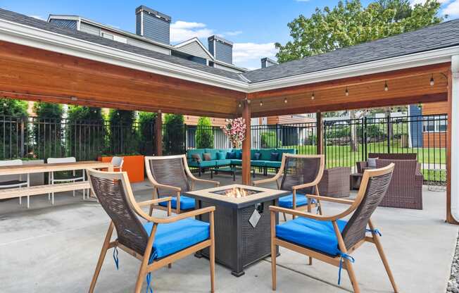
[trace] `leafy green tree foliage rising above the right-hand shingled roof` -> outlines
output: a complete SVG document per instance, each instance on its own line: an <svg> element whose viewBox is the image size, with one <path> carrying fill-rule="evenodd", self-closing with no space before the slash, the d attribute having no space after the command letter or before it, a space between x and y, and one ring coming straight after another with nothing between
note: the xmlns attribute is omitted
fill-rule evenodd
<svg viewBox="0 0 459 293"><path fill-rule="evenodd" d="M326 53L375 39L440 23L440 4L427 0L412 6L409 0L377 0L364 7L360 0L339 1L334 8L315 8L288 24L292 40L276 43L279 62Z"/></svg>

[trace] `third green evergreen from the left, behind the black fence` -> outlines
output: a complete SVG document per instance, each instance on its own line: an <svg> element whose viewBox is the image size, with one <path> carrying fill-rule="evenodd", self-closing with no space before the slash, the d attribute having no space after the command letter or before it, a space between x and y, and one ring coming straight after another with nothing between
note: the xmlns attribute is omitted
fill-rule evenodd
<svg viewBox="0 0 459 293"><path fill-rule="evenodd" d="M94 160L104 149L106 135L101 108L69 106L65 127L68 156Z"/></svg>

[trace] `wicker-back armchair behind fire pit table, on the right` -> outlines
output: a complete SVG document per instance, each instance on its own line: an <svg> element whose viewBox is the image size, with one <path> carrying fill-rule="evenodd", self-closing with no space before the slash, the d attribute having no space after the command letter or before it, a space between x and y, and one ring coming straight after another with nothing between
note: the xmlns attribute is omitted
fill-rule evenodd
<svg viewBox="0 0 459 293"><path fill-rule="evenodd" d="M308 199L306 194L320 195L317 185L322 179L324 164L323 155L283 154L279 172L272 178L254 181L253 185L275 181L277 189L291 191L290 195L279 199L279 206L310 211L315 206L315 200ZM280 185L279 179L282 179ZM317 201L317 204L320 202ZM287 220L285 214L284 220Z"/></svg>

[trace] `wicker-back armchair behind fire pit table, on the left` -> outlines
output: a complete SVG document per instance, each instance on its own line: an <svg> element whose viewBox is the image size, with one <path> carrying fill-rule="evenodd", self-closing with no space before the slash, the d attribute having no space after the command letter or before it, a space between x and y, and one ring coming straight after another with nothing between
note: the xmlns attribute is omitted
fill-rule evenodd
<svg viewBox="0 0 459 293"><path fill-rule="evenodd" d="M220 185L218 181L194 177L189 170L185 155L146 156L145 168L146 175L153 185L153 199L172 197L172 208L175 208L177 213L194 209L194 199L184 197L181 194L194 190L195 182ZM167 209L165 202L160 202L157 208ZM150 215L151 211L152 208L150 208Z"/></svg>

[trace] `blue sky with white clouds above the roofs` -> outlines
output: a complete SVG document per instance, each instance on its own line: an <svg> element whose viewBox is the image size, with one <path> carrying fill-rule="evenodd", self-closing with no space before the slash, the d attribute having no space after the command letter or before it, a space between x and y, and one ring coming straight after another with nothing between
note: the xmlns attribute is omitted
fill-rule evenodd
<svg viewBox="0 0 459 293"><path fill-rule="evenodd" d="M425 0L411 0L419 3ZM369 0L362 0L368 4ZM459 17L459 0L441 0L442 11ZM199 37L204 44L210 35L234 42L234 63L259 68L260 58L275 57L275 42L289 40L287 23L299 14L310 15L315 7L334 6L337 0L1 0L0 7L46 19L50 13L74 14L122 30L135 32L135 8L141 4L172 16L172 43Z"/></svg>

